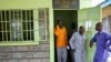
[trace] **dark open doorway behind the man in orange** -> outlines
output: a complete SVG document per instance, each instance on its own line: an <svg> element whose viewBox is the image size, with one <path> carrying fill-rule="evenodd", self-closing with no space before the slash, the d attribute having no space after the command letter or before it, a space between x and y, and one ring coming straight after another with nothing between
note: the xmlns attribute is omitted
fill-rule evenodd
<svg viewBox="0 0 111 62"><path fill-rule="evenodd" d="M68 39L70 38L71 30L78 30L78 10L53 10L54 28L57 25L57 20L61 20L62 24L67 29ZM56 48L56 35L54 35L54 49ZM69 50L68 50L69 52ZM54 50L54 62L57 62L57 50ZM71 62L71 55L68 53L68 62Z"/></svg>

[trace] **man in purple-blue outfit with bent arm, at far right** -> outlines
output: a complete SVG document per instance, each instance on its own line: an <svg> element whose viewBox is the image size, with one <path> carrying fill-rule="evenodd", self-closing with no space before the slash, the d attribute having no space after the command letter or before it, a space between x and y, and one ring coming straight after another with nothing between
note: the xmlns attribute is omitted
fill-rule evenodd
<svg viewBox="0 0 111 62"><path fill-rule="evenodd" d="M92 48L95 42L97 50L93 58L93 62L107 62L107 56L104 55L104 51L108 50L107 43L111 41L111 35L104 31L102 31L102 23L98 22L95 24L95 30L98 31L94 37L90 41L90 48Z"/></svg>

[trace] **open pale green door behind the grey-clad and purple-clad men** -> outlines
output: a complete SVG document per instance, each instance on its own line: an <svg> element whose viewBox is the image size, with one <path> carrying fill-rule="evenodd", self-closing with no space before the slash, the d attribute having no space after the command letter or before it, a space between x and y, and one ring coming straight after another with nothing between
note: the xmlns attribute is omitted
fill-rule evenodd
<svg viewBox="0 0 111 62"><path fill-rule="evenodd" d="M95 45L90 49L89 48L89 42L92 35L94 34L95 30L95 23L100 20L100 8L89 8L89 9L82 9L78 11L78 25L84 25L85 27L85 21L91 20L92 27L85 32L87 41L85 41L85 50L87 50L87 61L92 62L94 51L95 51Z"/></svg>

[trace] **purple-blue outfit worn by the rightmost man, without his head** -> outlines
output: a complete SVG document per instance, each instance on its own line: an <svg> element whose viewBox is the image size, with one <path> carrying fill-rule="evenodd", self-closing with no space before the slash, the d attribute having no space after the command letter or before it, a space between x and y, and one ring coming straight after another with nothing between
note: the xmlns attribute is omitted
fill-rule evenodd
<svg viewBox="0 0 111 62"><path fill-rule="evenodd" d="M94 54L93 62L105 62L107 59L104 59L104 50L107 49L108 41L111 41L111 34L101 31L97 32L94 37L92 38L92 41L95 42L97 50Z"/></svg>

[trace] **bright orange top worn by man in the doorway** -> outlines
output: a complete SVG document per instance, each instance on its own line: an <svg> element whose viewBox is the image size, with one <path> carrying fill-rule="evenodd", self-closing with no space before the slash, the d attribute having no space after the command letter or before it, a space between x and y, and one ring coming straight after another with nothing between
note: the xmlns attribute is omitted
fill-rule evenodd
<svg viewBox="0 0 111 62"><path fill-rule="evenodd" d="M57 48L64 48L67 46L67 30L63 27L62 29L59 25L54 29L54 34L57 37Z"/></svg>

